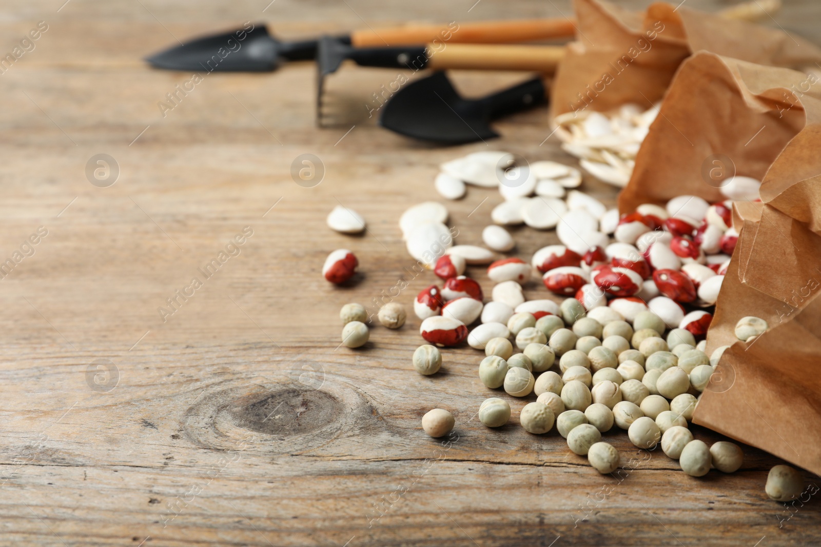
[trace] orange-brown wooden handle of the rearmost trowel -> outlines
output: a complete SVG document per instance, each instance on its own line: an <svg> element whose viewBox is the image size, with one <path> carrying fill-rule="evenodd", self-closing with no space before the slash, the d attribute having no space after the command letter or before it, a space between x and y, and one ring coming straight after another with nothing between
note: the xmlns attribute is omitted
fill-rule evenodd
<svg viewBox="0 0 821 547"><path fill-rule="evenodd" d="M482 21L450 25L406 25L391 29L355 30L351 43L359 48L422 43L513 43L568 38L576 32L575 21L529 19L522 21Z"/></svg>

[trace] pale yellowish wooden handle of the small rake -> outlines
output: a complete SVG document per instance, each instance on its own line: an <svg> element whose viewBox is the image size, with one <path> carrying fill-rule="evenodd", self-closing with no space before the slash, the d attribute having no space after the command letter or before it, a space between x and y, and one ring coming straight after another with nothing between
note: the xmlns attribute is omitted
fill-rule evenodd
<svg viewBox="0 0 821 547"><path fill-rule="evenodd" d="M537 71L550 74L565 54L563 46L489 45L470 43L440 44L439 51L428 47L428 66L484 71Z"/></svg>

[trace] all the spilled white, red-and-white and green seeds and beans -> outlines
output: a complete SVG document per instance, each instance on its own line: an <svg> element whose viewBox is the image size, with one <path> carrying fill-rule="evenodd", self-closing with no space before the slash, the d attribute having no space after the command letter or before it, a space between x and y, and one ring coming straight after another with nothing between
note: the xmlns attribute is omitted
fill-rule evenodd
<svg viewBox="0 0 821 547"><path fill-rule="evenodd" d="M658 107L641 112L626 105L612 116L560 117L557 133L562 148L579 157L585 171L624 186L657 113ZM719 203L683 195L665 207L647 203L620 215L578 190L582 175L576 167L515 162L504 152L472 153L444 163L434 180L447 199L463 197L467 185L502 194L505 201L490 214L493 224L482 230L484 247L454 244L442 203L419 203L399 219L407 252L441 279L413 301L413 312L422 320L420 335L428 342L408 356L415 371L435 374L447 360L439 348L467 342L484 353L477 364L486 396L493 390L517 398L537 395L520 409L521 426L535 435L555 426L568 448L587 455L599 472L619 466L617 449L601 440L601 433L614 426L626 430L639 448L661 444L664 454L679 460L691 476L704 476L711 468L735 472L743 460L741 449L726 441L708 446L695 440L688 424L728 347L704 353L713 306L738 239L732 200L758 199L759 181L736 176L722 188L727 200ZM510 253L516 241L504 226L521 224L556 230L561 244L540 248L530 262L506 258L502 253ZM365 220L337 207L328 215L328 226L356 233L365 230ZM341 283L357 266L350 250L337 249L328 256L323 276ZM468 266L488 268L495 283L489 299L466 276ZM533 276L542 277L549 293L565 297L562 303L526 300L522 285ZM404 309L388 306L379 321L401 326ZM343 344L355 348L368 341L365 308L346 304L340 317ZM744 317L736 336L750 342L767 328L758 317ZM479 405L484 426L503 426L510 417L504 399L491 396ZM454 424L441 408L423 420L432 436L447 435ZM800 486L792 484L795 476L781 469L787 466L777 467L768 478L768 495L783 500L800 494ZM780 485L771 486L785 476L787 494Z"/></svg>

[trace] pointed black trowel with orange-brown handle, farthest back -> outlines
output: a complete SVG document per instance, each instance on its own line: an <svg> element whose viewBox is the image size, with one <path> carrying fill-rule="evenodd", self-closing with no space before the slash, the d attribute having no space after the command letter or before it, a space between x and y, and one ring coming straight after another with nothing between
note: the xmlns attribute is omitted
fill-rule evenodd
<svg viewBox="0 0 821 547"><path fill-rule="evenodd" d="M511 43L571 37L576 30L571 19L523 21L453 22L449 25L404 25L378 30L355 30L338 37L355 47L407 46L440 43ZM264 24L246 23L233 32L192 40L146 57L156 68L172 71L247 71L277 69L282 59L303 61L316 55L319 39L281 42Z"/></svg>

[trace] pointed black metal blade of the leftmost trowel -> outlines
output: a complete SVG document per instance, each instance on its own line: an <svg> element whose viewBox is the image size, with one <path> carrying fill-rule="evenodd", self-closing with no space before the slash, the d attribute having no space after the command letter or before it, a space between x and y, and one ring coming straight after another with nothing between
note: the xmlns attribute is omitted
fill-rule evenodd
<svg viewBox="0 0 821 547"><path fill-rule="evenodd" d="M345 38L341 39L343 42ZM316 40L280 42L263 24L213 34L146 57L156 68L170 71L268 72L281 59L302 61L316 55Z"/></svg>

